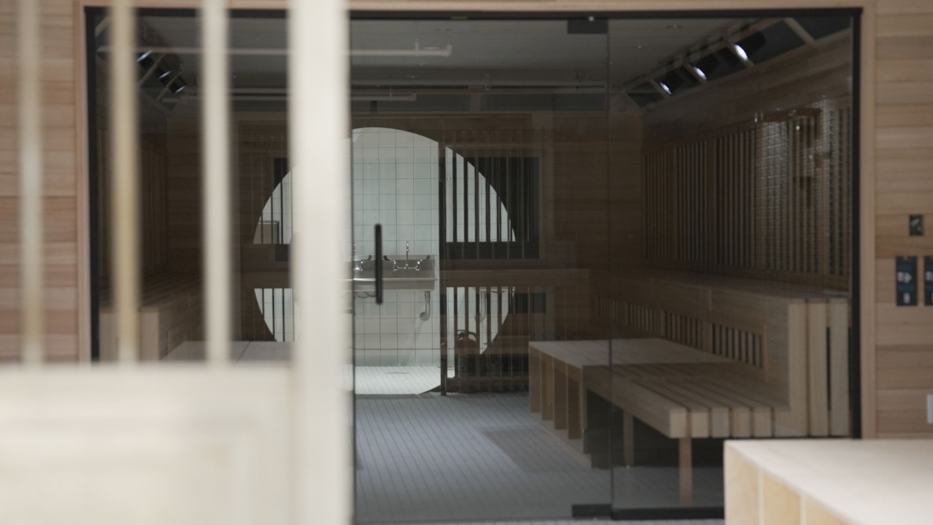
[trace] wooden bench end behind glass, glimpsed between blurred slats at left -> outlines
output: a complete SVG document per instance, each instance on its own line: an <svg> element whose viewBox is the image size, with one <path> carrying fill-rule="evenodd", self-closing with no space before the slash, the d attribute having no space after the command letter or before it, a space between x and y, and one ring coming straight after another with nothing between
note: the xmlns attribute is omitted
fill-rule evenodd
<svg viewBox="0 0 933 525"><path fill-rule="evenodd" d="M197 276L147 277L139 308L140 359L159 361L181 343L202 337L201 284ZM109 291L101 294L100 355L116 359L115 315Z"/></svg>

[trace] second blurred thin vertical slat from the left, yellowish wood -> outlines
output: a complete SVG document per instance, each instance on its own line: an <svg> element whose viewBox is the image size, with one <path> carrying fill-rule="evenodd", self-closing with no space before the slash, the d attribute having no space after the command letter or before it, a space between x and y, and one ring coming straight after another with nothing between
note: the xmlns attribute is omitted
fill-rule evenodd
<svg viewBox="0 0 933 525"><path fill-rule="evenodd" d="M139 126L136 106L135 10L132 0L114 0L110 10L110 113L113 196L111 249L114 304L117 310L117 355L120 362L139 359Z"/></svg>

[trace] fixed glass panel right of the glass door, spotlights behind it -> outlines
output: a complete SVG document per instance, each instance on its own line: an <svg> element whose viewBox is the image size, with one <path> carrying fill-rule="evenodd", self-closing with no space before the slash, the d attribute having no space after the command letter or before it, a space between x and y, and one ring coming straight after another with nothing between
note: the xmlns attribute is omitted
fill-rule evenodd
<svg viewBox="0 0 933 525"><path fill-rule="evenodd" d="M609 22L618 517L716 512L723 439L851 434L851 37Z"/></svg>

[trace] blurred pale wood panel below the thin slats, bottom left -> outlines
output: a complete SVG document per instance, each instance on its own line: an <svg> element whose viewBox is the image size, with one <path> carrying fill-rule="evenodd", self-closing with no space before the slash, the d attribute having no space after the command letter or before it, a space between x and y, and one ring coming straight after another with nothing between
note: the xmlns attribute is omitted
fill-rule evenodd
<svg viewBox="0 0 933 525"><path fill-rule="evenodd" d="M7 368L2 376L5 521L293 522L294 382L285 366Z"/></svg>

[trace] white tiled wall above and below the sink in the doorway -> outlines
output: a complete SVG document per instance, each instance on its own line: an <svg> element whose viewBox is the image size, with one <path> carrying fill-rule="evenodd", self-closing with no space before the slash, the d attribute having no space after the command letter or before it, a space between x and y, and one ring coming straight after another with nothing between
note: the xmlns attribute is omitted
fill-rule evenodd
<svg viewBox="0 0 933 525"><path fill-rule="evenodd" d="M411 132L362 128L353 132L356 259L375 257L373 226L383 225L383 253L398 258L409 243L412 259L439 256L438 143ZM386 291L383 305L355 299L357 364L439 362L439 291Z"/></svg>

